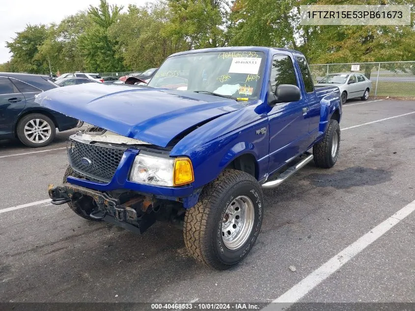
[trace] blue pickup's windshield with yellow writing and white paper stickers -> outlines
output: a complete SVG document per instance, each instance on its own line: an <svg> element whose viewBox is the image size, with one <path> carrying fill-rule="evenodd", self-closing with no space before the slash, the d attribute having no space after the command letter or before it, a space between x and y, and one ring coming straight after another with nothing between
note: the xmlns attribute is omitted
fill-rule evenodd
<svg viewBox="0 0 415 311"><path fill-rule="evenodd" d="M185 54L169 57L148 86L256 98L265 56L255 51Z"/></svg>

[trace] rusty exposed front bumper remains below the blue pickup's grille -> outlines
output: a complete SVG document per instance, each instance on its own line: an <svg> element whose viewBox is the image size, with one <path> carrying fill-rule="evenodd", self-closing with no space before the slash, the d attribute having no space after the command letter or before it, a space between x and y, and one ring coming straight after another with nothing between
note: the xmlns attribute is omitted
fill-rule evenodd
<svg viewBox="0 0 415 311"><path fill-rule="evenodd" d="M52 204L60 205L68 202L78 204L84 215L136 233L143 233L154 224L156 213L160 209L156 201L142 195L136 194L121 203L118 198L112 198L106 193L72 184L49 185L48 192ZM85 197L93 203L92 209L83 208L82 202Z"/></svg>

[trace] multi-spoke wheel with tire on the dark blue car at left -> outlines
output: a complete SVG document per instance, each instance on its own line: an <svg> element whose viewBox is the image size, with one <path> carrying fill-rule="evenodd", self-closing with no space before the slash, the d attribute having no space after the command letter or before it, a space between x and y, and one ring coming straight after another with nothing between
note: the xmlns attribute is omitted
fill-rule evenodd
<svg viewBox="0 0 415 311"><path fill-rule="evenodd" d="M41 113L30 113L17 124L17 137L29 147L47 146L54 140L55 135L55 123Z"/></svg>

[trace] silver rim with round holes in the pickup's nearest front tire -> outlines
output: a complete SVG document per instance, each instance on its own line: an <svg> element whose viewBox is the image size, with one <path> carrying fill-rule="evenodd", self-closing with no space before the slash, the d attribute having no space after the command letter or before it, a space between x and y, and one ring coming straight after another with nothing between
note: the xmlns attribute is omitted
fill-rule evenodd
<svg viewBox="0 0 415 311"><path fill-rule="evenodd" d="M254 222L253 203L247 196L235 198L222 219L222 240L229 250L239 249L247 242Z"/></svg>

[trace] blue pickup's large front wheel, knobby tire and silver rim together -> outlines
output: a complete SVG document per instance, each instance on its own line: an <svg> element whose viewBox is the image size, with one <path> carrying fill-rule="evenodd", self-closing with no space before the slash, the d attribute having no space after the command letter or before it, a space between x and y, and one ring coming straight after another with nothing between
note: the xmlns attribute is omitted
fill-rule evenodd
<svg viewBox="0 0 415 311"><path fill-rule="evenodd" d="M183 233L187 250L218 270L239 263L258 237L263 202L261 186L253 176L239 170L223 171L186 211Z"/></svg>

